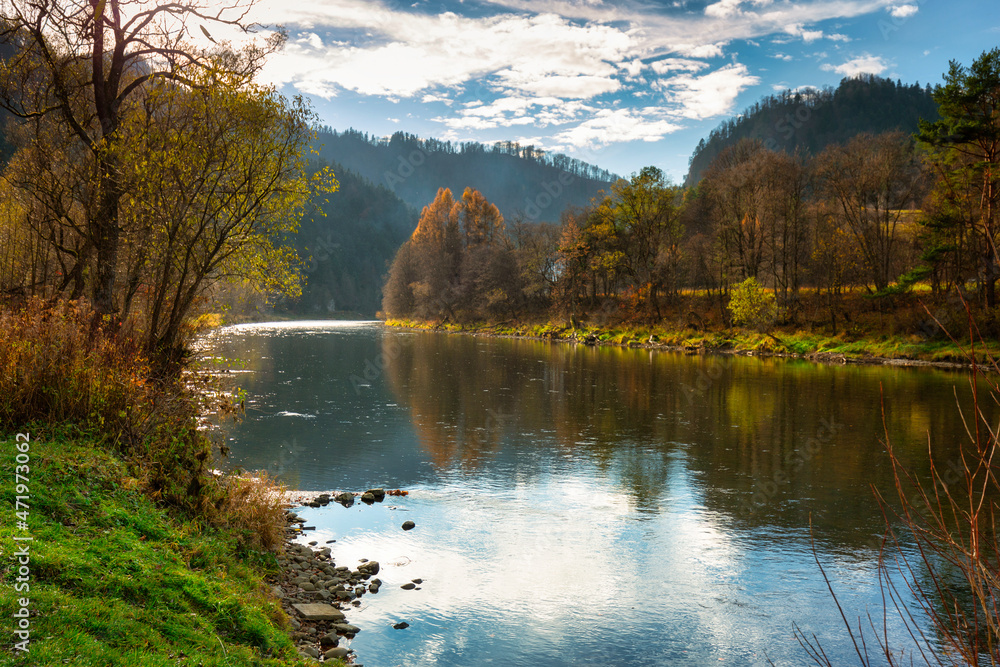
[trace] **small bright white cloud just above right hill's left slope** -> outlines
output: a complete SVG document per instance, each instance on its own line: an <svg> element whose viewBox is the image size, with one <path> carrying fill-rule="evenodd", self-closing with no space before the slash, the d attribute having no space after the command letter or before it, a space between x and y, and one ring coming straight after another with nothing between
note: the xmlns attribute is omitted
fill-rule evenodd
<svg viewBox="0 0 1000 667"><path fill-rule="evenodd" d="M703 76L685 74L658 82L667 99L678 105L676 115L702 120L728 113L736 97L748 86L760 83L746 65L731 63Z"/></svg>

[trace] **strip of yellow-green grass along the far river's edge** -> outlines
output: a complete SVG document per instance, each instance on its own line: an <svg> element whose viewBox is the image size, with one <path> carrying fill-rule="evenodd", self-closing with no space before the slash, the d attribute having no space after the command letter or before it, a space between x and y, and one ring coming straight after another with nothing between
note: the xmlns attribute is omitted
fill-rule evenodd
<svg viewBox="0 0 1000 667"><path fill-rule="evenodd" d="M386 320L388 326L413 329L435 329L443 331L464 331L488 333L503 336L523 336L529 338L566 339L576 334L578 339L596 336L609 345L646 344L650 336L654 344L677 348L704 348L708 351L753 351L757 354L809 356L814 354L843 355L852 359L908 359L930 362L967 363L968 354L950 340L923 340L918 336L872 335L854 337L848 335L824 336L803 331L780 331L773 334L758 333L743 329L723 331L695 331L692 329L668 329L661 326L610 327L584 326L573 329L567 324L442 324L419 320ZM966 346L967 347L967 346ZM987 362L990 357L1000 358L1000 343L990 341L987 345L976 345L977 357Z"/></svg>

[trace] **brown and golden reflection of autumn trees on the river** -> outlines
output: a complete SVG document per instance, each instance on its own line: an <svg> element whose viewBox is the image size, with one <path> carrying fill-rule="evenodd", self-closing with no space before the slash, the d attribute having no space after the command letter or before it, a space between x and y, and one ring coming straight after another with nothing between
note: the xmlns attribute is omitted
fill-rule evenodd
<svg viewBox="0 0 1000 667"><path fill-rule="evenodd" d="M655 512L680 456L708 509L745 528L803 526L811 513L848 550L882 526L871 486L893 488L885 432L923 475L933 434L946 467L965 432L953 391L971 393L966 376L931 370L435 334L386 333L382 348L439 469L586 460Z"/></svg>

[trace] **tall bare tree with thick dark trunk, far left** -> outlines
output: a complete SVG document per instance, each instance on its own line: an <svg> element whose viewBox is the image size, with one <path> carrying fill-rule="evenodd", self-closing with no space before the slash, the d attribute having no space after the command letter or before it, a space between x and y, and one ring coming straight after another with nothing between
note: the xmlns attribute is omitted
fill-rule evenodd
<svg viewBox="0 0 1000 667"><path fill-rule="evenodd" d="M64 126L93 165L92 210L83 222L83 254L93 255L98 312L122 307L118 285L122 199L134 164L123 158L124 114L153 83L239 89L282 41L280 33L234 47L211 31L246 34L250 4L214 7L195 0L8 0L0 39L15 53L0 69L0 103L18 117L49 117ZM206 40L199 45L191 29ZM126 151L127 153L127 151Z"/></svg>

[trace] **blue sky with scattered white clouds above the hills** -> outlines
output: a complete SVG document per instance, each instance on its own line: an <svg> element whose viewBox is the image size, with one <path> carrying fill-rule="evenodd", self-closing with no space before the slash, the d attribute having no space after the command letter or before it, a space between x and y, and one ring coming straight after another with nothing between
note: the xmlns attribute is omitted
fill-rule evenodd
<svg viewBox="0 0 1000 667"><path fill-rule="evenodd" d="M516 140L683 179L698 140L761 96L862 72L941 81L1000 44L975 0L263 0L289 32L264 79L324 124Z"/></svg>

